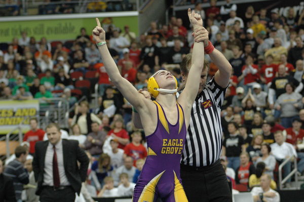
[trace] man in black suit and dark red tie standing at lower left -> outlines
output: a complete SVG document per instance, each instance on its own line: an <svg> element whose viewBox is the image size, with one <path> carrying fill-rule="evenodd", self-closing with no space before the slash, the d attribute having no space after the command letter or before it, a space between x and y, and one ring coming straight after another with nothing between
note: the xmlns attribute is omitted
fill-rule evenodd
<svg viewBox="0 0 304 202"><path fill-rule="evenodd" d="M41 202L74 201L75 192L80 193L86 179L89 158L78 141L61 139L57 124L49 124L46 132L49 140L35 145L36 194Z"/></svg>

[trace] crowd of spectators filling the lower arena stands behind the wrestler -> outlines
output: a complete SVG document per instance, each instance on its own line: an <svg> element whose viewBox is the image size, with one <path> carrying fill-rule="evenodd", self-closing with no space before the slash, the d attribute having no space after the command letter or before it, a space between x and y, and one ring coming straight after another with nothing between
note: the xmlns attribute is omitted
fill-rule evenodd
<svg viewBox="0 0 304 202"><path fill-rule="evenodd" d="M276 167L286 158L291 157L283 176L290 173L294 157L297 175L304 175L304 10L295 13L290 8L288 16L280 16L277 10L255 12L249 6L239 17L237 6L226 2L218 8L211 0L202 15L210 41L233 66L222 104L221 162L234 189L250 190L265 182L276 189ZM199 6L196 10L202 14ZM146 35L136 36L132 26L137 25L106 28L107 47L122 76L138 90L146 90L147 78L167 69L181 90L179 64L192 52L193 31L175 16L168 24L151 22ZM216 70L211 62L209 78ZM145 138L131 123L132 106L111 85L87 30L82 28L74 41L65 43L49 43L45 37L36 42L26 32L14 38L0 51L1 99L62 96L73 105L77 98L71 95L71 75L80 72L82 79L90 71L99 85L100 107L92 110L87 101L77 104L67 138L78 140L91 159L86 186L92 197L131 195L147 155ZM33 153L43 133L36 123L30 126L24 141Z"/></svg>

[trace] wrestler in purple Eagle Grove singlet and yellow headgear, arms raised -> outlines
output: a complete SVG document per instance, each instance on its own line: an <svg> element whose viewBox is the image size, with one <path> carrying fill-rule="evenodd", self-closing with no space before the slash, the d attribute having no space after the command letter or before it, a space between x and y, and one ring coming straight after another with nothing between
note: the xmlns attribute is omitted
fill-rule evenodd
<svg viewBox="0 0 304 202"><path fill-rule="evenodd" d="M194 30L202 27L199 14L188 9L188 17ZM142 120L146 135L148 156L134 189L133 202L187 201L180 180L180 157L184 146L190 112L199 90L204 66L204 44L195 43L192 67L183 92L176 99L176 78L166 70L157 71L148 79L148 90L156 101L146 99L134 86L120 75L105 43L105 31L96 18L93 29L102 61L111 82L124 97L136 108ZM207 30L205 30L206 33ZM207 39L207 34L205 34Z"/></svg>

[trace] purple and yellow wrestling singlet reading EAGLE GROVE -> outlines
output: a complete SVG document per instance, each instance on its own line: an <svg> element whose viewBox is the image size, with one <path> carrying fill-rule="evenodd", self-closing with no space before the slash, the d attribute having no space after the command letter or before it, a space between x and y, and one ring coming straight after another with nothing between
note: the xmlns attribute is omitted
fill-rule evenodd
<svg viewBox="0 0 304 202"><path fill-rule="evenodd" d="M148 156L134 189L133 202L155 202L158 198L187 202L180 180L180 157L186 137L183 110L177 103L177 122L171 125L162 106L154 103L158 123L155 132L146 137Z"/></svg>

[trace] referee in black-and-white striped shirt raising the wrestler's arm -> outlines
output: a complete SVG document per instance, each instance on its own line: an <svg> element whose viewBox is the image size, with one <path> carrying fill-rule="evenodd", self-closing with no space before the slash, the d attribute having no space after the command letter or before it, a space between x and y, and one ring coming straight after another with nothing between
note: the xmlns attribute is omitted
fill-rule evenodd
<svg viewBox="0 0 304 202"><path fill-rule="evenodd" d="M194 35L195 40L199 42L206 32L204 27L200 28ZM209 54L218 71L207 84L209 67L204 67L201 73L200 88L193 103L181 157L180 177L189 202L231 202L231 191L219 157L222 148L220 111L232 67L209 41L205 41L204 45L205 54ZM191 68L191 57L187 54L181 62L184 82ZM207 62L204 65L208 65ZM137 115L134 114L133 121L135 127L140 127Z"/></svg>

